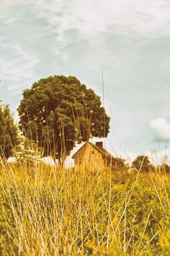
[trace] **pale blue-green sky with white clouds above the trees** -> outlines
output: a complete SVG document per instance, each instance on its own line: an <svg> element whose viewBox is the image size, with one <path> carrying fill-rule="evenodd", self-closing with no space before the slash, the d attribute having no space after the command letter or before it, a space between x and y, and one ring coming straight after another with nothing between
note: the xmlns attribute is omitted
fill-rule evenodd
<svg viewBox="0 0 170 256"><path fill-rule="evenodd" d="M169 0L1 0L0 98L17 116L22 91L73 75L110 116L113 155L170 155ZM170 161L169 161L170 163Z"/></svg>

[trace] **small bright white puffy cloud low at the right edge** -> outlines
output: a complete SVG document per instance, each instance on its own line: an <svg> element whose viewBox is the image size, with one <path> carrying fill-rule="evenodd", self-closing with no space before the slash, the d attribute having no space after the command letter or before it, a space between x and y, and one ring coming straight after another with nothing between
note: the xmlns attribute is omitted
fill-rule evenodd
<svg viewBox="0 0 170 256"><path fill-rule="evenodd" d="M163 139L170 138L170 123L164 117L149 121L149 127Z"/></svg>

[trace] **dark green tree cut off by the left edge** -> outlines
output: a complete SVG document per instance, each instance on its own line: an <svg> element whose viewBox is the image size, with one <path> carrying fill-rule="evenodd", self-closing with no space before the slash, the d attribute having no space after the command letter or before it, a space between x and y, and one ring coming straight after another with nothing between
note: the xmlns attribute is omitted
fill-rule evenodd
<svg viewBox="0 0 170 256"><path fill-rule="evenodd" d="M9 158L12 149L18 144L18 128L14 123L8 105L0 101L0 155Z"/></svg>

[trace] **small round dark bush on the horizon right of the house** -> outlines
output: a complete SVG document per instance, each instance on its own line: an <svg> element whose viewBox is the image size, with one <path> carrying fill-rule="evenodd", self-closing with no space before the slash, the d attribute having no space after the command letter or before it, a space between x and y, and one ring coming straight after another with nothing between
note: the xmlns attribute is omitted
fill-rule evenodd
<svg viewBox="0 0 170 256"><path fill-rule="evenodd" d="M140 172L149 172L150 170L153 170L154 167L149 161L148 156L142 155L138 156L133 162L132 166L136 169L140 169Z"/></svg>

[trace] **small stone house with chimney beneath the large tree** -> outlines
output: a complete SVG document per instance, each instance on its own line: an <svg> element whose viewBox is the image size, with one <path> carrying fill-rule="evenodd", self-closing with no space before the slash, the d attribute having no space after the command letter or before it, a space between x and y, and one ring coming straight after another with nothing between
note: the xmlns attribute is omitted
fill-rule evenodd
<svg viewBox="0 0 170 256"><path fill-rule="evenodd" d="M86 142L72 157L77 171L115 167L115 158L103 148L103 142Z"/></svg>

